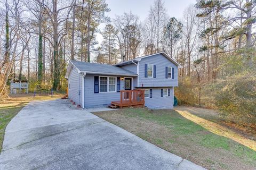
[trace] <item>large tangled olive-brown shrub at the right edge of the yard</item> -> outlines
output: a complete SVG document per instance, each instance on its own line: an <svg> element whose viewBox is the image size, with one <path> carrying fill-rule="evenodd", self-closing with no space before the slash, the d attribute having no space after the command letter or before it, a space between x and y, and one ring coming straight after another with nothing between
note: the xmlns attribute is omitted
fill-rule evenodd
<svg viewBox="0 0 256 170"><path fill-rule="evenodd" d="M239 122L256 120L256 72L244 72L205 87L205 95L222 116Z"/></svg>

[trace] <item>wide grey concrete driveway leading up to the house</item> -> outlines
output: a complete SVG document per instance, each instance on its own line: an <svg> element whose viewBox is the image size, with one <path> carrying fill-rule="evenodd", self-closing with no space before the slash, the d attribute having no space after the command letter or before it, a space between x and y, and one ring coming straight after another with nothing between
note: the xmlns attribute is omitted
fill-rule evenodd
<svg viewBox="0 0 256 170"><path fill-rule="evenodd" d="M32 102L6 128L0 169L203 169L68 100Z"/></svg>

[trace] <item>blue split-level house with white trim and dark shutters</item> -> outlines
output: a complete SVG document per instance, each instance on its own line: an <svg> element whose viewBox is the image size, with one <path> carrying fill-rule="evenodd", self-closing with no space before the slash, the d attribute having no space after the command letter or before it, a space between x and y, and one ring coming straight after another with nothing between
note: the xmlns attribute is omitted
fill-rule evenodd
<svg viewBox="0 0 256 170"><path fill-rule="evenodd" d="M65 76L68 97L77 105L90 108L120 101L124 90L142 89L148 108L173 108L179 67L180 64L165 52L115 65L70 61ZM122 100L131 98L134 97L123 94Z"/></svg>

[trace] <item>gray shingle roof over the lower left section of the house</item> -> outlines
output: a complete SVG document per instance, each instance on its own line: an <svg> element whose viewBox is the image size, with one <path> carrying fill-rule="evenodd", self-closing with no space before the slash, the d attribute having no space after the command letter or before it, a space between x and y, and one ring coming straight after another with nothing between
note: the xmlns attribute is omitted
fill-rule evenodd
<svg viewBox="0 0 256 170"><path fill-rule="evenodd" d="M97 64L97 63L88 63L88 62L78 62L78 61L70 61L75 67L80 70L81 72L86 73L97 73L97 74L109 74L109 75L130 75L130 76L137 76L137 74L122 69L118 66L108 65L108 64Z"/></svg>

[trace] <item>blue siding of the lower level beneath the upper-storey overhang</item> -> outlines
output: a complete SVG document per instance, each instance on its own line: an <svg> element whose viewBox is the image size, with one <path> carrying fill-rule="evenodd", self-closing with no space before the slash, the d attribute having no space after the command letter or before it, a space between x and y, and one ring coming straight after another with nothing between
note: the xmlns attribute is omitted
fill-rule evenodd
<svg viewBox="0 0 256 170"><path fill-rule="evenodd" d="M145 106L151 109L173 108L173 87L164 87L170 89L170 96L161 97L162 88L150 88L152 89L152 98L145 99ZM148 88L145 88L148 89Z"/></svg>

